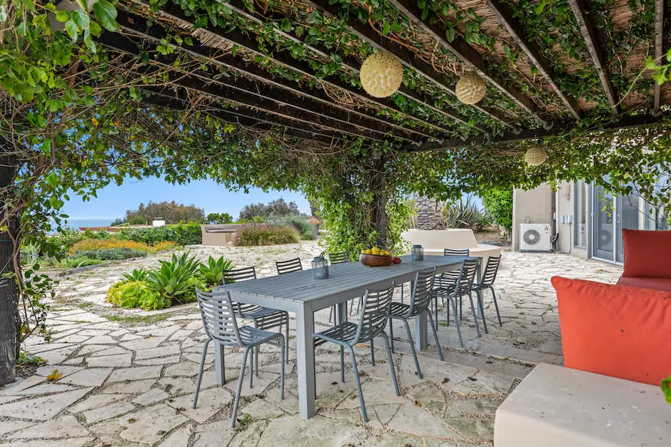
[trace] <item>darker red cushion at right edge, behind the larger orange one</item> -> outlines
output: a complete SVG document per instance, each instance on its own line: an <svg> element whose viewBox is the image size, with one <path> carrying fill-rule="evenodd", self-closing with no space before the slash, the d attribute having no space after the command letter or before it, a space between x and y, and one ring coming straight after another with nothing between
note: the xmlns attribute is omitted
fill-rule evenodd
<svg viewBox="0 0 671 447"><path fill-rule="evenodd" d="M622 230L623 277L671 278L671 230Z"/></svg>

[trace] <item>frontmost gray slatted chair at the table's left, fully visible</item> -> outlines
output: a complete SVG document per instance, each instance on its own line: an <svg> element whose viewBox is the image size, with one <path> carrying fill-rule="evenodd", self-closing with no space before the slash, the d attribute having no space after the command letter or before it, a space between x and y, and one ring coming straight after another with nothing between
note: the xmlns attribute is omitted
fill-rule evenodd
<svg viewBox="0 0 671 447"><path fill-rule="evenodd" d="M205 357L210 341L219 346L239 346L244 349L242 354L242 364L240 366L240 376L238 377L238 390L236 392L236 401L233 404L233 417L231 418L231 427L236 426L236 416L238 416L238 404L240 404L240 392L242 390L242 381L245 377L245 366L247 364L247 354L261 344L269 343L280 348L280 399L284 399L284 336L278 332L268 332L262 329L256 329L250 326L238 328L238 320L233 310L231 294L226 290L220 290L209 293L201 292L196 288L196 297L198 297L198 307L201 308L201 317L203 319L203 328L207 339L203 344L203 355L201 356L201 367L198 369L198 379L196 380L196 394L193 394L193 408L198 404L198 391L201 389L201 379L203 379L203 368L205 367ZM221 368L224 368L223 362ZM249 386L253 386L253 371L249 370Z"/></svg>

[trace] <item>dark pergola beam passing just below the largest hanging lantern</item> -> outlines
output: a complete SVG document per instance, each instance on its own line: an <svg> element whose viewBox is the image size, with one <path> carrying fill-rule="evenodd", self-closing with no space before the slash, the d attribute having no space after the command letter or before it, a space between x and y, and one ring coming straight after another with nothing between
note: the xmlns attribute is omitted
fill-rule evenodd
<svg viewBox="0 0 671 447"><path fill-rule="evenodd" d="M181 9L180 6L177 6L175 4L166 4L164 6L161 6L160 14L168 17L171 21L181 22L181 24L183 24L183 26L186 26L188 29L195 28L191 23L190 18L186 16L186 14L184 13L184 11ZM230 31L227 29L223 29L221 26L214 26L211 23L208 24L207 28L199 29L199 31L201 32L205 31L208 34L211 34L211 36L215 38L224 39L228 42L234 43L238 46L245 48L248 51L263 56L264 58L268 58L271 61L281 63L284 66L288 66L292 70L298 71L299 73L305 76L326 83L340 90L346 91L347 93L350 93L351 95L355 96L361 101L373 103L379 106L380 108L387 108L390 111L402 113L403 115L408 116L408 118L416 120L428 126L429 128L437 130L441 135L444 135L445 132L450 133L453 132L452 130L449 130L447 128L435 125L434 123L430 123L430 121L423 120L422 118L418 118L413 115L408 115L407 113L400 110L400 108L396 106L396 104L390 99L372 98L370 96L366 96L365 93L363 93L362 91L359 91L358 89L353 88L349 83L342 81L340 77L337 75L326 76L326 78L318 78L318 76L316 76L313 68L308 62L295 59L284 51L276 51L273 52L272 55L268 55L267 53L262 51L261 48L259 48L258 43L255 40L253 40L253 38L249 37L246 33L243 33L242 31L239 30Z"/></svg>

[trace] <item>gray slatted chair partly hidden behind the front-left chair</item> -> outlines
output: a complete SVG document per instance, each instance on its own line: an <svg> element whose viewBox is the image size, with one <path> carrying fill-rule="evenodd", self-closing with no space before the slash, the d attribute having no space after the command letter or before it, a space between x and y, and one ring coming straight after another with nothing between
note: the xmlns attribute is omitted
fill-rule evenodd
<svg viewBox="0 0 671 447"><path fill-rule="evenodd" d="M256 267L242 267L239 269L226 269L222 272L223 284L248 281L256 279ZM283 310L270 309L268 307L256 306L255 304L243 304L233 302L233 312L240 318L251 319L256 329L286 328L286 362L289 363L289 314ZM254 349L254 361L256 362L256 375L258 376L258 349Z"/></svg>

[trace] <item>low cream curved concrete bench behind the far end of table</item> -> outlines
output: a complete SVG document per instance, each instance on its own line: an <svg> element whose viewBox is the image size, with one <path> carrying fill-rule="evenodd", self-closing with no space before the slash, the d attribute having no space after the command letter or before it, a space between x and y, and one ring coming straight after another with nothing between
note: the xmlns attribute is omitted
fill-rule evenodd
<svg viewBox="0 0 671 447"><path fill-rule="evenodd" d="M407 230L401 237L413 245L421 245L426 255L443 255L445 248L455 250L468 248L470 256L483 258L483 268L490 256L500 256L501 248L495 245L478 244L473 230L450 228L449 230Z"/></svg>

